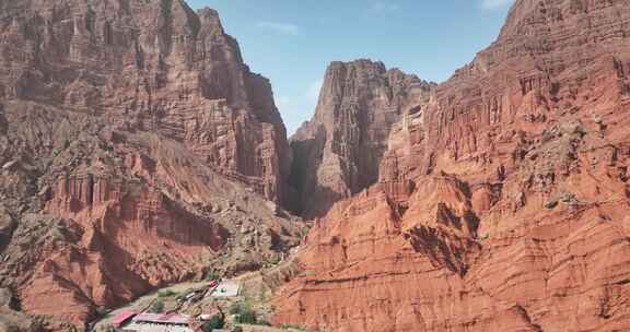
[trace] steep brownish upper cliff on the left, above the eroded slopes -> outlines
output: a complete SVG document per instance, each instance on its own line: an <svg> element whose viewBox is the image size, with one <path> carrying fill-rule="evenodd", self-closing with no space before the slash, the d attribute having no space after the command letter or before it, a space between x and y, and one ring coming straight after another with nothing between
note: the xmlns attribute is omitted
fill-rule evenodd
<svg viewBox="0 0 630 332"><path fill-rule="evenodd" d="M269 82L217 12L180 0L2 1L0 96L183 142L280 201L290 154Z"/></svg>

